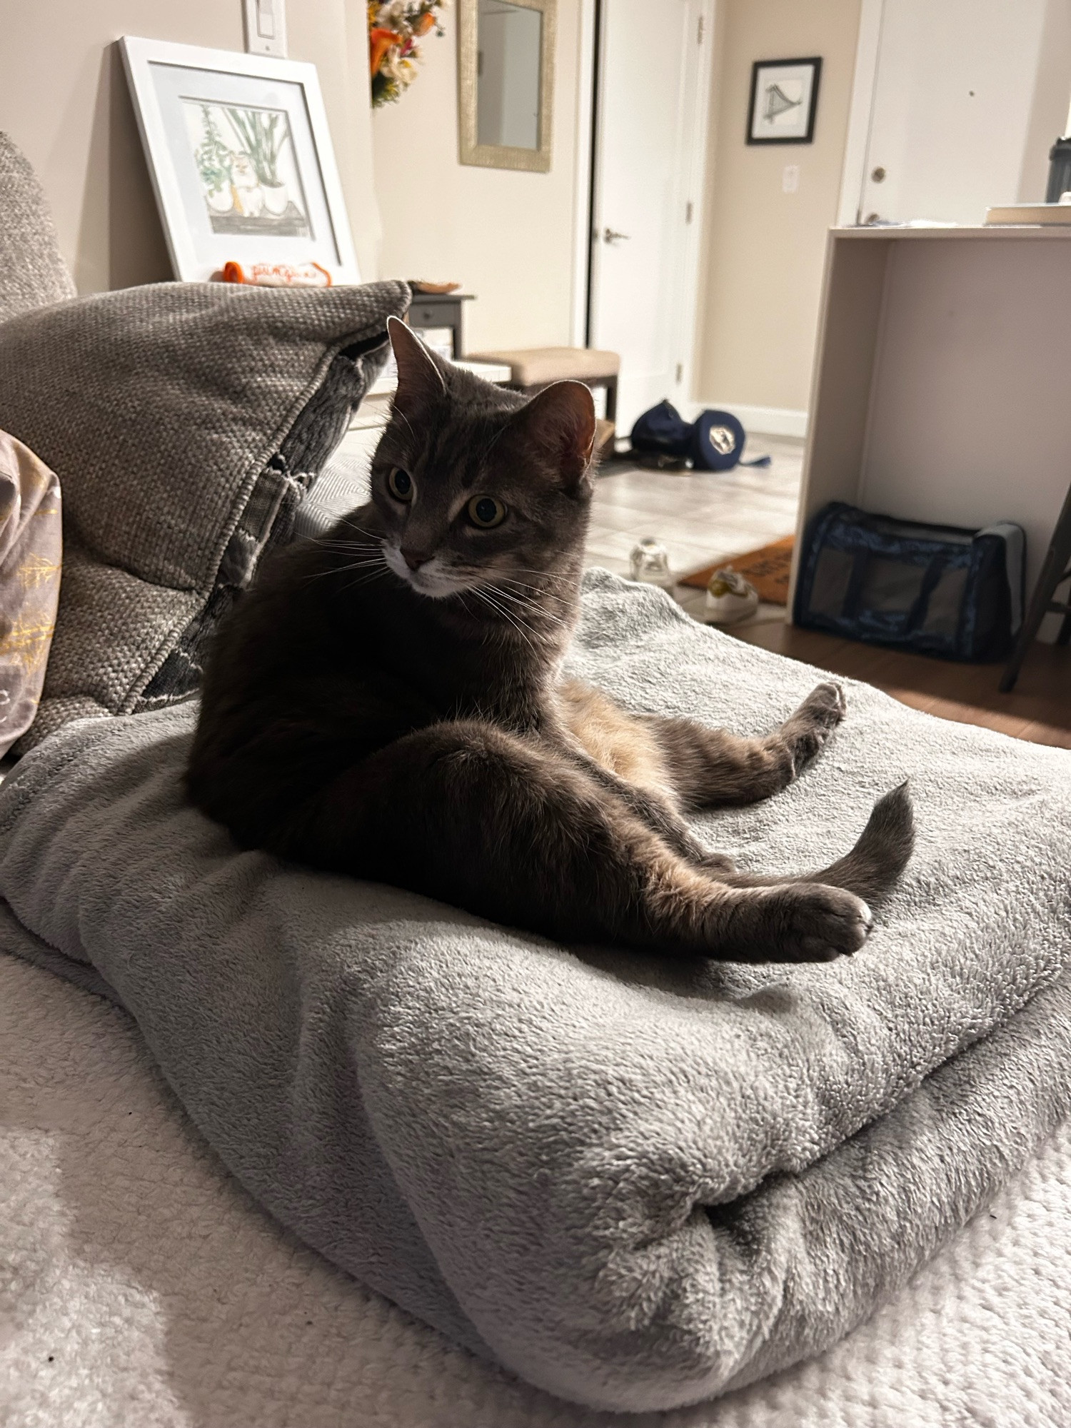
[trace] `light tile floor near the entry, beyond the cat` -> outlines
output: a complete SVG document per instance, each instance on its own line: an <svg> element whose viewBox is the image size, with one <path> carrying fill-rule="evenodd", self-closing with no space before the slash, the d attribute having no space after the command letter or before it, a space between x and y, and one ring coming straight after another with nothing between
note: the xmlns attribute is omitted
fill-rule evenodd
<svg viewBox="0 0 1071 1428"><path fill-rule="evenodd" d="M747 454L773 457L770 467L731 471L645 471L613 463L595 483L587 543L590 565L628 574L628 553L644 536L661 540L674 573L708 565L724 555L755 550L795 530L803 441L748 438ZM678 585L690 614L703 610L703 591ZM784 618L781 605L760 608L758 620Z"/></svg>

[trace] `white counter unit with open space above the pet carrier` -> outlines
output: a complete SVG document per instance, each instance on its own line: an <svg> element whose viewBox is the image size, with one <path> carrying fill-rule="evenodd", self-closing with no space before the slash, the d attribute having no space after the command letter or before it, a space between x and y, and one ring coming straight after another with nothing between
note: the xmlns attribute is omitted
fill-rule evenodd
<svg viewBox="0 0 1071 1428"><path fill-rule="evenodd" d="M1030 594L1070 484L1071 227L833 228L795 560L834 500L1012 520Z"/></svg>

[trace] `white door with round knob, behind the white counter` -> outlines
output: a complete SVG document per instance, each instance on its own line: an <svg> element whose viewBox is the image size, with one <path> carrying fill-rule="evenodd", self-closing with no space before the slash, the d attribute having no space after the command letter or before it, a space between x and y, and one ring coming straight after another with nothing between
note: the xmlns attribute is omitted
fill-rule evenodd
<svg viewBox="0 0 1071 1428"><path fill-rule="evenodd" d="M1044 197L1067 110L1065 71L1045 73L1051 7L885 0L858 221L978 224L992 204Z"/></svg>

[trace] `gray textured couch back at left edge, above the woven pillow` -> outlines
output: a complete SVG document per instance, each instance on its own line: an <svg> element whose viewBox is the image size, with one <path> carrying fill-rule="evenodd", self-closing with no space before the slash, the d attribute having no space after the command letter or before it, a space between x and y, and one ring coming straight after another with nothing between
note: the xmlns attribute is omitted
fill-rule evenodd
<svg viewBox="0 0 1071 1428"><path fill-rule="evenodd" d="M74 297L33 169L0 134L0 321Z"/></svg>

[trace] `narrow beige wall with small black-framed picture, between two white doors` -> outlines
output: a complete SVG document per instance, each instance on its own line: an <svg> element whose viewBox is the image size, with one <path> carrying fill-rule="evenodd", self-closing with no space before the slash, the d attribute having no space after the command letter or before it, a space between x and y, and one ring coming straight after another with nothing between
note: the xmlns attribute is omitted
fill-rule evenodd
<svg viewBox="0 0 1071 1428"><path fill-rule="evenodd" d="M860 0L720 0L718 11L695 397L755 430L803 434ZM823 57L814 143L747 144L751 63L807 54ZM785 164L800 170L795 193L783 190Z"/></svg>

